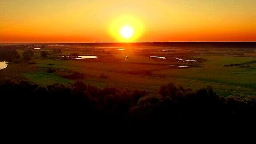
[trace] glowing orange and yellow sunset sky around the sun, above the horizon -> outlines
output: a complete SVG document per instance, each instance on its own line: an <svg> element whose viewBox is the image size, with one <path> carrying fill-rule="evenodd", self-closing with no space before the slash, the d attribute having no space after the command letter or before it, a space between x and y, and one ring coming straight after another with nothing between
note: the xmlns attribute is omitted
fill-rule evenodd
<svg viewBox="0 0 256 144"><path fill-rule="evenodd" d="M0 0L0 43L256 41L256 0ZM128 18L126 18L128 17ZM117 28L118 27L118 28Z"/></svg>

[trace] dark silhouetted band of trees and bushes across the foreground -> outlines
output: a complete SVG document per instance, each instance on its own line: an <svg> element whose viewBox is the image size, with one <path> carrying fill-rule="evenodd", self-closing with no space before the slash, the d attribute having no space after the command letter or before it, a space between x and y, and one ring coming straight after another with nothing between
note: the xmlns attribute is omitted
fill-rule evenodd
<svg viewBox="0 0 256 144"><path fill-rule="evenodd" d="M140 132L256 128L256 96L222 97L211 86L191 90L169 83L152 92L97 88L80 81L42 87L8 80L0 83L0 92L2 120L8 128L107 127Z"/></svg>

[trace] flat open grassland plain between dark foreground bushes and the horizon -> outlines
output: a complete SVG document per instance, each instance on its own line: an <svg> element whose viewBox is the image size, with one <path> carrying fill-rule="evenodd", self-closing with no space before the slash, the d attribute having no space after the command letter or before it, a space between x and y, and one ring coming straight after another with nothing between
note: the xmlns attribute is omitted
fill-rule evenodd
<svg viewBox="0 0 256 144"><path fill-rule="evenodd" d="M33 60L31 60L34 64L11 63L1 70L0 76L22 76L21 79L47 85L73 83L75 80L68 79L66 76L79 72L84 74L82 79L84 82L100 87L156 89L162 84L174 82L186 88L212 85L216 92L224 96L234 93L256 95L255 49L132 46L122 48L124 50L118 50L120 47L49 45L44 49L34 50ZM40 57L41 51L51 52L53 49L61 49L62 53L51 54L45 58ZM22 53L24 50L18 51ZM60 57L71 53L99 57L81 60L62 60ZM150 56L164 56L166 59ZM49 73L48 68L56 72Z"/></svg>

